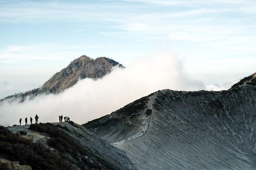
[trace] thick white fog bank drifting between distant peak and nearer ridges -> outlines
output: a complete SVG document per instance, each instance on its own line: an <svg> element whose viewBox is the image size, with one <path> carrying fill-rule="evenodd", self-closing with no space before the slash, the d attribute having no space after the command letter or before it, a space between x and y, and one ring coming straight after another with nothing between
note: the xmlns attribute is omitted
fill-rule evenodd
<svg viewBox="0 0 256 170"><path fill-rule="evenodd" d="M58 95L39 95L33 100L5 101L0 105L0 124L25 124L25 118L39 116L39 122L58 122L58 116L83 124L162 89L205 90L200 81L188 77L183 64L170 51L156 52L123 69L114 67L102 79L79 80Z"/></svg>

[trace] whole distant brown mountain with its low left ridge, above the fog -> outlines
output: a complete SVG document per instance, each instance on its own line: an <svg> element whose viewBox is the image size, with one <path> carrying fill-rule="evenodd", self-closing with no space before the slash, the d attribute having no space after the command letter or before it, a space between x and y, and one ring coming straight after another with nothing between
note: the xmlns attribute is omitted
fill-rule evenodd
<svg viewBox="0 0 256 170"><path fill-rule="evenodd" d="M104 75L110 73L115 66L124 68L122 64L107 57L93 59L86 55L82 55L72 61L66 68L63 68L61 71L54 74L54 76L45 82L41 88L35 88L27 92L11 95L0 101L5 99L20 99L20 102L23 102L27 96L34 98L38 94L43 93L56 94L73 86L79 79L102 78Z"/></svg>

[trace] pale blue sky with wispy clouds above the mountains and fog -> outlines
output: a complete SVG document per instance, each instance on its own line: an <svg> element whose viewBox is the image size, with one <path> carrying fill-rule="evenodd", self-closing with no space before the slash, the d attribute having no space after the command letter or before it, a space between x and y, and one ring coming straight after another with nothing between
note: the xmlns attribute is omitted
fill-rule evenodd
<svg viewBox="0 0 256 170"><path fill-rule="evenodd" d="M256 72L255 0L0 0L0 98L83 54L131 65L174 51L205 84Z"/></svg>

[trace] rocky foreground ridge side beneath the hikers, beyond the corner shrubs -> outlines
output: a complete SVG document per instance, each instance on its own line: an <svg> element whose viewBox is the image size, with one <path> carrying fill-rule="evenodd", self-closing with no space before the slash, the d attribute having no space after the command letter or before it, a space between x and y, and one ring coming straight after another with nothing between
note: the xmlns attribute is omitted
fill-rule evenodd
<svg viewBox="0 0 256 170"><path fill-rule="evenodd" d="M124 151L109 145L83 126L73 122L40 123L30 128L29 125L12 126L8 129L13 133L27 132L27 135L20 137L40 143L60 155L63 162L67 159L70 169L137 169ZM60 138L58 135L62 133L68 138ZM73 143L72 146L70 142Z"/></svg>

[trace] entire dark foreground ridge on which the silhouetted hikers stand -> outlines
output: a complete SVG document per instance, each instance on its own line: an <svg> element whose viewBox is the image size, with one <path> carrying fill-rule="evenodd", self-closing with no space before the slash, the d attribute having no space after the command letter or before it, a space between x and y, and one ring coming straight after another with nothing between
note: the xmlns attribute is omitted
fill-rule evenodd
<svg viewBox="0 0 256 170"><path fill-rule="evenodd" d="M10 142L10 134L7 138L0 136L0 158L19 161L20 165L29 165L33 169L137 169L124 151L73 122L40 123L8 129L13 133L27 132L27 135L19 137L14 135L14 143ZM35 147L24 139L39 144L39 153L34 153ZM24 148L19 148L19 145ZM43 154L40 155L41 150Z"/></svg>

